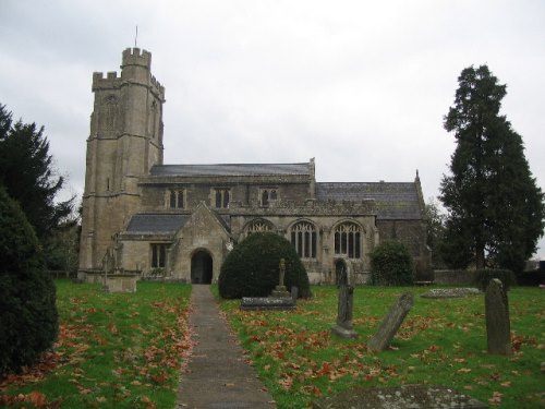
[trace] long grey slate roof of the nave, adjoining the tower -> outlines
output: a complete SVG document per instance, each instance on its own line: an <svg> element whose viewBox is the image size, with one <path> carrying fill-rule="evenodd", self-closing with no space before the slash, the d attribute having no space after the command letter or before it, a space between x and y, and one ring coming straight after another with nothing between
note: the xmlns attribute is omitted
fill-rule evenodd
<svg viewBox="0 0 545 409"><path fill-rule="evenodd" d="M152 176L308 175L308 164L156 165Z"/></svg>

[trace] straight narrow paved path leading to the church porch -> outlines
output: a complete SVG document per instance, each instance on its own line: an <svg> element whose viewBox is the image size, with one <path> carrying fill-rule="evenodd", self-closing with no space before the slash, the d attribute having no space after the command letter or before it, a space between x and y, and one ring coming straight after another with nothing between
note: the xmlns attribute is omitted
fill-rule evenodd
<svg viewBox="0 0 545 409"><path fill-rule="evenodd" d="M193 285L190 325L196 342L182 374L177 408L275 408L255 370L242 356L209 286Z"/></svg>

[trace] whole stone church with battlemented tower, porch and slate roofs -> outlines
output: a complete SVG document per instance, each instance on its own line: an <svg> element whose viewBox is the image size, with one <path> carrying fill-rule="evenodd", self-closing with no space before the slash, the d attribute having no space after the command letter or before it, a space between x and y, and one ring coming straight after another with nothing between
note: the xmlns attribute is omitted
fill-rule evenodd
<svg viewBox="0 0 545 409"><path fill-rule="evenodd" d="M158 275L208 284L227 254L257 231L283 236L311 282L335 282L348 266L355 282L370 253L397 239L419 274L429 265L424 201L414 181L317 182L315 161L165 165L165 87L152 55L122 53L121 73L93 74L95 103L87 140L81 278Z"/></svg>

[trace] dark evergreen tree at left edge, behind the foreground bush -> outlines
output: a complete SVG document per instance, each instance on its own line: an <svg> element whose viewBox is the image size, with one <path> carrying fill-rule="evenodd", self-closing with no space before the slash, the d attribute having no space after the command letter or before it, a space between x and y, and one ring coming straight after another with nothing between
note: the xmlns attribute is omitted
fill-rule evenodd
<svg viewBox="0 0 545 409"><path fill-rule="evenodd" d="M53 168L44 127L21 120L13 123L12 113L1 104L0 183L17 201L41 241L72 212L73 200L55 202L64 179Z"/></svg>

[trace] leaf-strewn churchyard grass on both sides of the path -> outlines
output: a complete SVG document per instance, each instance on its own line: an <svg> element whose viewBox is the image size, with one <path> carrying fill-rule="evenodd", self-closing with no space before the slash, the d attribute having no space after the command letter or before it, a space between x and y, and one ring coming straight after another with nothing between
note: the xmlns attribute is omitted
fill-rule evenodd
<svg viewBox="0 0 545 409"><path fill-rule="evenodd" d="M435 287L432 287L435 289ZM60 334L55 353L31 372L4 380L0 402L13 407L173 408L180 364L192 344L191 286L138 282L135 293L105 293L98 285L58 280ZM443 385L499 408L544 405L545 291L508 292L513 352L487 352L484 294L427 299L429 287L356 287L353 329L331 334L338 289L315 286L293 311L241 311L221 300L246 359L279 408L353 387ZM389 348L367 342L399 297L413 305Z"/></svg>

